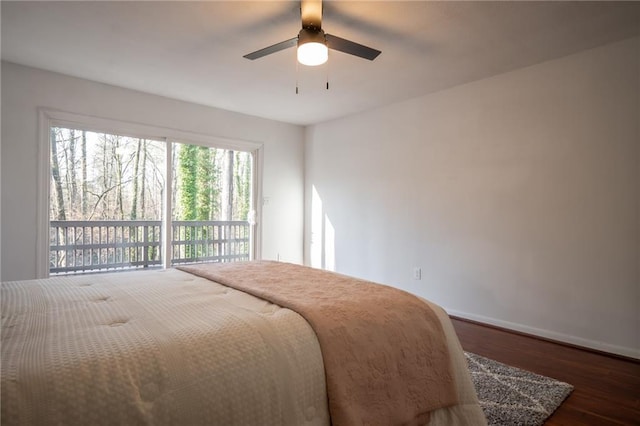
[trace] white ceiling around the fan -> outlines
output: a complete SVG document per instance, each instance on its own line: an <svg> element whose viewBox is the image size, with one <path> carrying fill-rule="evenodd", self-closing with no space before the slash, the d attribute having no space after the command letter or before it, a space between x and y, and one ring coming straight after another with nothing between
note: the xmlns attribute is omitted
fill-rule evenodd
<svg viewBox="0 0 640 426"><path fill-rule="evenodd" d="M332 51L296 71L293 48L242 57L297 35L292 1L2 1L0 13L3 60L302 125L640 33L638 2L326 1L327 33L382 54Z"/></svg>

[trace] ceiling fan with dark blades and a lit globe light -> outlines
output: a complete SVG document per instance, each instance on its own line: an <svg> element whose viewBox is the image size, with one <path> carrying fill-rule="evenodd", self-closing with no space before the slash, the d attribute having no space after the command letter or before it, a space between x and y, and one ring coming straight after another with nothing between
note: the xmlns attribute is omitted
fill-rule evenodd
<svg viewBox="0 0 640 426"><path fill-rule="evenodd" d="M321 65L328 59L328 49L373 61L381 51L346 40L322 30L322 0L302 0L300 2L302 29L297 37L281 41L264 49L244 55L247 59L258 59L275 52L298 46L298 62L303 65Z"/></svg>

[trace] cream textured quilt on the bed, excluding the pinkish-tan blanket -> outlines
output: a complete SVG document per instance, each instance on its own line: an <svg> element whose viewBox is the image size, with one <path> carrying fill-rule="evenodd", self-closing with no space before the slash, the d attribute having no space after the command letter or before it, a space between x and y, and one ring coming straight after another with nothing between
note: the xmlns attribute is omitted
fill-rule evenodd
<svg viewBox="0 0 640 426"><path fill-rule="evenodd" d="M296 312L178 271L2 283L6 425L329 425L322 352ZM484 424L446 313L458 403Z"/></svg>

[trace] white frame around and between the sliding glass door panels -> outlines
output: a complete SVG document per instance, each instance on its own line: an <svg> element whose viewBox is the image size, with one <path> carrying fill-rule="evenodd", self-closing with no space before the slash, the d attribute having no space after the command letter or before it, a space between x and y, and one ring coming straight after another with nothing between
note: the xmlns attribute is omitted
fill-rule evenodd
<svg viewBox="0 0 640 426"><path fill-rule="evenodd" d="M98 133L111 133L134 138L146 138L167 143L167 164L170 164L171 146L173 142L201 145L210 148L231 149L246 151L252 154L252 194L251 202L255 210L255 223L250 226L252 245L250 255L252 259L261 259L262 247L262 165L263 144L259 142L228 139L213 135L193 133L168 127L153 126L133 123L121 120L82 115L72 112L60 111L51 108L38 108L38 199L37 199L37 232L36 232L36 277L47 278L49 276L49 200L50 200L50 175L51 175L51 141L50 129L52 127L66 127ZM171 173L171 167L167 167ZM171 176L167 176L168 190L171 193ZM164 256L163 267L170 267L170 257L167 247L170 242L167 225L171 224L170 203L165 202L163 225L164 232ZM169 213L169 214L168 214Z"/></svg>

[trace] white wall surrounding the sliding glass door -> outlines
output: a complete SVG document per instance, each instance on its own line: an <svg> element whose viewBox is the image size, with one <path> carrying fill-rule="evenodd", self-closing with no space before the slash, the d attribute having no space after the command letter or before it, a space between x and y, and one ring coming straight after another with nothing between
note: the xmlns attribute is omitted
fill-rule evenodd
<svg viewBox="0 0 640 426"><path fill-rule="evenodd" d="M304 129L2 63L2 280L36 276L38 107L263 144L262 257L302 262Z"/></svg>

